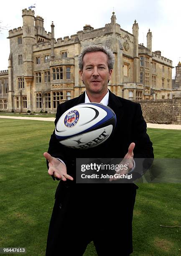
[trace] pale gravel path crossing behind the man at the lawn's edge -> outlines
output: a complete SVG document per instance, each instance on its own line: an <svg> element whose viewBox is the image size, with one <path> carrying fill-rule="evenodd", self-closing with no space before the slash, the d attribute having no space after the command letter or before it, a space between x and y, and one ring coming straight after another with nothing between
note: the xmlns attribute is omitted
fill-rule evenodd
<svg viewBox="0 0 181 256"><path fill-rule="evenodd" d="M39 121L52 121L54 122L55 118L36 118L36 117L24 117L24 116L9 116L9 115L0 115L0 118L12 118L12 119L26 119L26 120L39 120ZM158 129L173 129L181 130L181 125L172 125L172 124L158 124L158 123L147 123L148 128L158 128Z"/></svg>

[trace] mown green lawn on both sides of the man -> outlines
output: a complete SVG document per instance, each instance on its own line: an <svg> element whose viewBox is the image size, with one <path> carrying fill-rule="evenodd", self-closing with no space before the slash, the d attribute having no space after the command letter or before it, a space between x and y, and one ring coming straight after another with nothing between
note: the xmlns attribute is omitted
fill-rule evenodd
<svg viewBox="0 0 181 256"><path fill-rule="evenodd" d="M54 122L0 119L0 247L24 246L28 256L45 255L57 181L47 174L43 152L53 129ZM148 133L156 157L181 158L181 131ZM132 255L181 255L181 228L160 227L181 226L181 184L138 186ZM91 243L84 256L95 255Z"/></svg>

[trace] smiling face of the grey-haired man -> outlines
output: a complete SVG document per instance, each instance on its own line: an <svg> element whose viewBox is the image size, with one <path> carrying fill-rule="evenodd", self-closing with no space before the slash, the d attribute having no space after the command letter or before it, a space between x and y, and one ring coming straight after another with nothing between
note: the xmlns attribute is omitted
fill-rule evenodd
<svg viewBox="0 0 181 256"><path fill-rule="evenodd" d="M107 55L102 51L89 52L83 57L83 70L79 71L87 92L103 94L107 92L112 69L108 69Z"/></svg>

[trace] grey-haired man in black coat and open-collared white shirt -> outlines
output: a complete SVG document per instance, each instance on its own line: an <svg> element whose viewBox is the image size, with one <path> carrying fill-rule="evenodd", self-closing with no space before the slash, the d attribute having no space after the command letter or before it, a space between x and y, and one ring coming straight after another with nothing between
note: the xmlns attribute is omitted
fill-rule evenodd
<svg viewBox="0 0 181 256"><path fill-rule="evenodd" d="M76 150L61 145L51 136L48 174L60 179L48 231L46 256L82 256L94 242L99 256L130 255L135 184L76 184L76 158L126 158L130 169L134 158L153 158L153 147L146 133L140 105L117 97L107 90L114 55L103 46L87 46L79 56L81 80L86 92L57 108L55 124L69 108L84 102L101 102L114 110L117 125L101 145Z"/></svg>

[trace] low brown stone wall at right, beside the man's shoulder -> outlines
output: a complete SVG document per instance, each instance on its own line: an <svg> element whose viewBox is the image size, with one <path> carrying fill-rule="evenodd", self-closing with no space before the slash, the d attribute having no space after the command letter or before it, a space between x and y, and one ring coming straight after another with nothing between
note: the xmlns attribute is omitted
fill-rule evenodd
<svg viewBox="0 0 181 256"><path fill-rule="evenodd" d="M147 123L181 124L181 97L172 100L140 100Z"/></svg>

